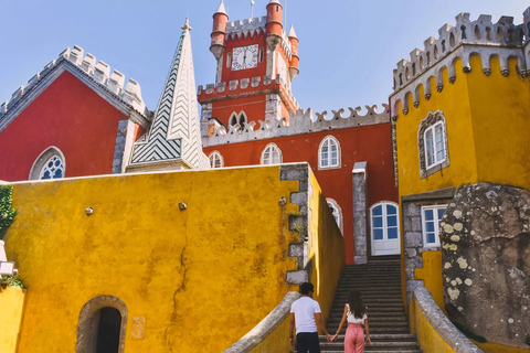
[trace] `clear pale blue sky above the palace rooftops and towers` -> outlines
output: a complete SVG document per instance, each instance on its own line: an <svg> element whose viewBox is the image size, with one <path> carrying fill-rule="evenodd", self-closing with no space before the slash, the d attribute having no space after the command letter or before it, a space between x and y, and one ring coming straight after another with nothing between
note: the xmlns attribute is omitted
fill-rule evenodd
<svg viewBox="0 0 530 353"><path fill-rule="evenodd" d="M285 6L286 0L280 0ZM210 53L212 15L220 0L0 0L0 101L74 44L141 86L156 109L187 17L197 85L215 79ZM255 0L254 17L269 0ZM225 0L230 21L251 17L250 0ZM522 0L287 0L286 28L300 40L300 74L293 92L316 111L388 101L392 69L423 41L437 36L459 12L470 19L511 15L522 22ZM285 13L285 8L284 8ZM288 30L288 28L287 28Z"/></svg>

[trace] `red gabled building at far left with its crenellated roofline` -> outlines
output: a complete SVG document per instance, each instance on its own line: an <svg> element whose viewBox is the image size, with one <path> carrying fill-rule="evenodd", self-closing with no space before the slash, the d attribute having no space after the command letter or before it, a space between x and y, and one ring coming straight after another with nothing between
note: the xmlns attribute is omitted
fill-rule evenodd
<svg viewBox="0 0 530 353"><path fill-rule="evenodd" d="M149 126L139 85L124 79L78 46L61 53L0 108L0 180L123 172Z"/></svg>

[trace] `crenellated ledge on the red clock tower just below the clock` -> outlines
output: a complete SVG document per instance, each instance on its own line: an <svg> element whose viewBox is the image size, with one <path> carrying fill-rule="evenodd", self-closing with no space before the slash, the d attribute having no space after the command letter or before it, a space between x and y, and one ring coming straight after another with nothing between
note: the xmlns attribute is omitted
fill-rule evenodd
<svg viewBox="0 0 530 353"><path fill-rule="evenodd" d="M271 86L271 84L273 83L282 85L284 92L286 93L290 101L293 101L295 108L299 109L300 106L298 101L295 99L295 96L293 95L290 87L287 85L286 82L284 82L280 75L276 75L274 79L271 76L264 76L262 81L262 77L257 76L252 78L233 79L233 81L230 81L229 83L221 82L219 84L208 84L205 89L202 85L200 85L198 87L197 95L198 96L202 95L202 97L200 97L199 99L203 100L203 99L206 99L205 96L208 95L226 94L226 92L242 92L242 90L246 92L246 90L255 90L255 89L257 90L259 88L267 88L267 86Z"/></svg>

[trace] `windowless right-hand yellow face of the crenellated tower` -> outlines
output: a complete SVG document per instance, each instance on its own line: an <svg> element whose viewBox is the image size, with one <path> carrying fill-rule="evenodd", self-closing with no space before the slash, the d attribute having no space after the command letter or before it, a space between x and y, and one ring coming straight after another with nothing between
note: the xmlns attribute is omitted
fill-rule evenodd
<svg viewBox="0 0 530 353"><path fill-rule="evenodd" d="M530 81L517 74L517 60L509 60L509 76L500 73L497 58L491 74L480 69L468 76L478 180L530 189ZM471 57L471 67L480 67Z"/></svg>

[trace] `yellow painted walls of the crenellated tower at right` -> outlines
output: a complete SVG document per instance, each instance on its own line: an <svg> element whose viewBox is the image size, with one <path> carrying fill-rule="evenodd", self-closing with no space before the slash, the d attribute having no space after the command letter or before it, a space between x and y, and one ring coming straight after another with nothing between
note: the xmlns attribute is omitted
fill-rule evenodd
<svg viewBox="0 0 530 353"><path fill-rule="evenodd" d="M530 189L530 81L517 74L516 65L516 60L509 61L510 74L505 77L498 58L492 57L491 73L487 76L481 69L480 57L470 57L470 73L463 73L458 60L454 84L448 82L447 69L444 69L441 93L433 78L430 100L424 98L421 87L417 108L411 96L407 115L403 115L402 104L399 104L395 129L400 196L477 182ZM421 179L417 131L428 113L438 109L446 119L449 165ZM403 207L401 200L400 207ZM432 280L431 276L441 271L438 255L422 255L423 268L416 270L417 279L430 278L424 285L439 304L443 286L439 277Z"/></svg>

